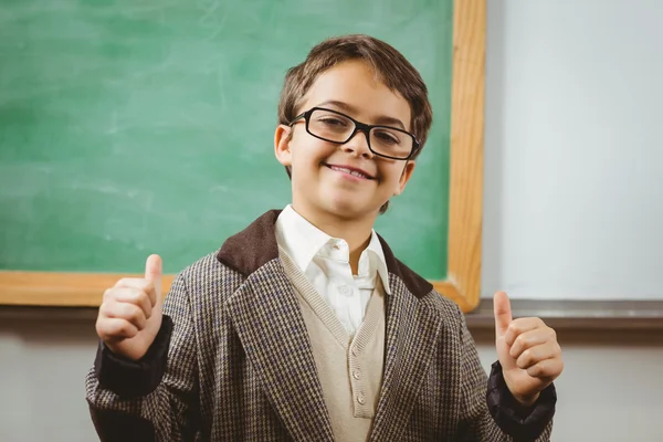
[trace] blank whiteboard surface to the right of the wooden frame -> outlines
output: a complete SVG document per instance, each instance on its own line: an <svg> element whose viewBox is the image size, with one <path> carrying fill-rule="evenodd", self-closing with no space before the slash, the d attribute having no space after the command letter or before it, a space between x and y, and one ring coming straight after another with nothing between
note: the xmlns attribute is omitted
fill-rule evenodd
<svg viewBox="0 0 663 442"><path fill-rule="evenodd" d="M482 297L663 298L663 2L488 2Z"/></svg>

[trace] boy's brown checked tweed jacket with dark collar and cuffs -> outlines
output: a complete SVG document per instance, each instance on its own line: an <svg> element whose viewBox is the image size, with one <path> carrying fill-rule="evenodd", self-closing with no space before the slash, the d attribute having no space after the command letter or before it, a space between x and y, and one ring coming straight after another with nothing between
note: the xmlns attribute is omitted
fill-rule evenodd
<svg viewBox="0 0 663 442"><path fill-rule="evenodd" d="M334 441L270 211L180 273L139 361L99 344L86 399L102 441ZM459 307L398 261L389 271L371 441L549 440L555 389L519 409L490 379Z"/></svg>

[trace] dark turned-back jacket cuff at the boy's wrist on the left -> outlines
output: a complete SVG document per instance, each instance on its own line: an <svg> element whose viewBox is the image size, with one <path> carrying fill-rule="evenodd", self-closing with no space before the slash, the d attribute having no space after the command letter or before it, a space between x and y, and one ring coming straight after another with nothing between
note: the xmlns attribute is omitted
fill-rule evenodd
<svg viewBox="0 0 663 442"><path fill-rule="evenodd" d="M168 362L168 347L172 334L172 319L164 315L161 328L147 354L139 360L115 355L99 341L94 370L99 386L120 398L137 398L157 389Z"/></svg>

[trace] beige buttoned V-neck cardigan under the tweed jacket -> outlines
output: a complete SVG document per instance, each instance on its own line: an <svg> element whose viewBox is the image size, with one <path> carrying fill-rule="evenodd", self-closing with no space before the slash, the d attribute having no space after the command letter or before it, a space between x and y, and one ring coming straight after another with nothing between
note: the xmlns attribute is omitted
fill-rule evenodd
<svg viewBox="0 0 663 442"><path fill-rule="evenodd" d="M350 338L334 311L283 249L278 256L297 293L335 440L367 441L382 383L385 291L381 280L377 278L364 322Z"/></svg>

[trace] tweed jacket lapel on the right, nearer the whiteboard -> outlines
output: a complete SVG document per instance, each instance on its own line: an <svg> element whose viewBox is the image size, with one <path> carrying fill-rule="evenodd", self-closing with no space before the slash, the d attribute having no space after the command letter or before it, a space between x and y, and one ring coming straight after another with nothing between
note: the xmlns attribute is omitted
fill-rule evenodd
<svg viewBox="0 0 663 442"><path fill-rule="evenodd" d="M385 375L371 441L402 438L442 333L432 299L415 297L400 277L389 276Z"/></svg>

